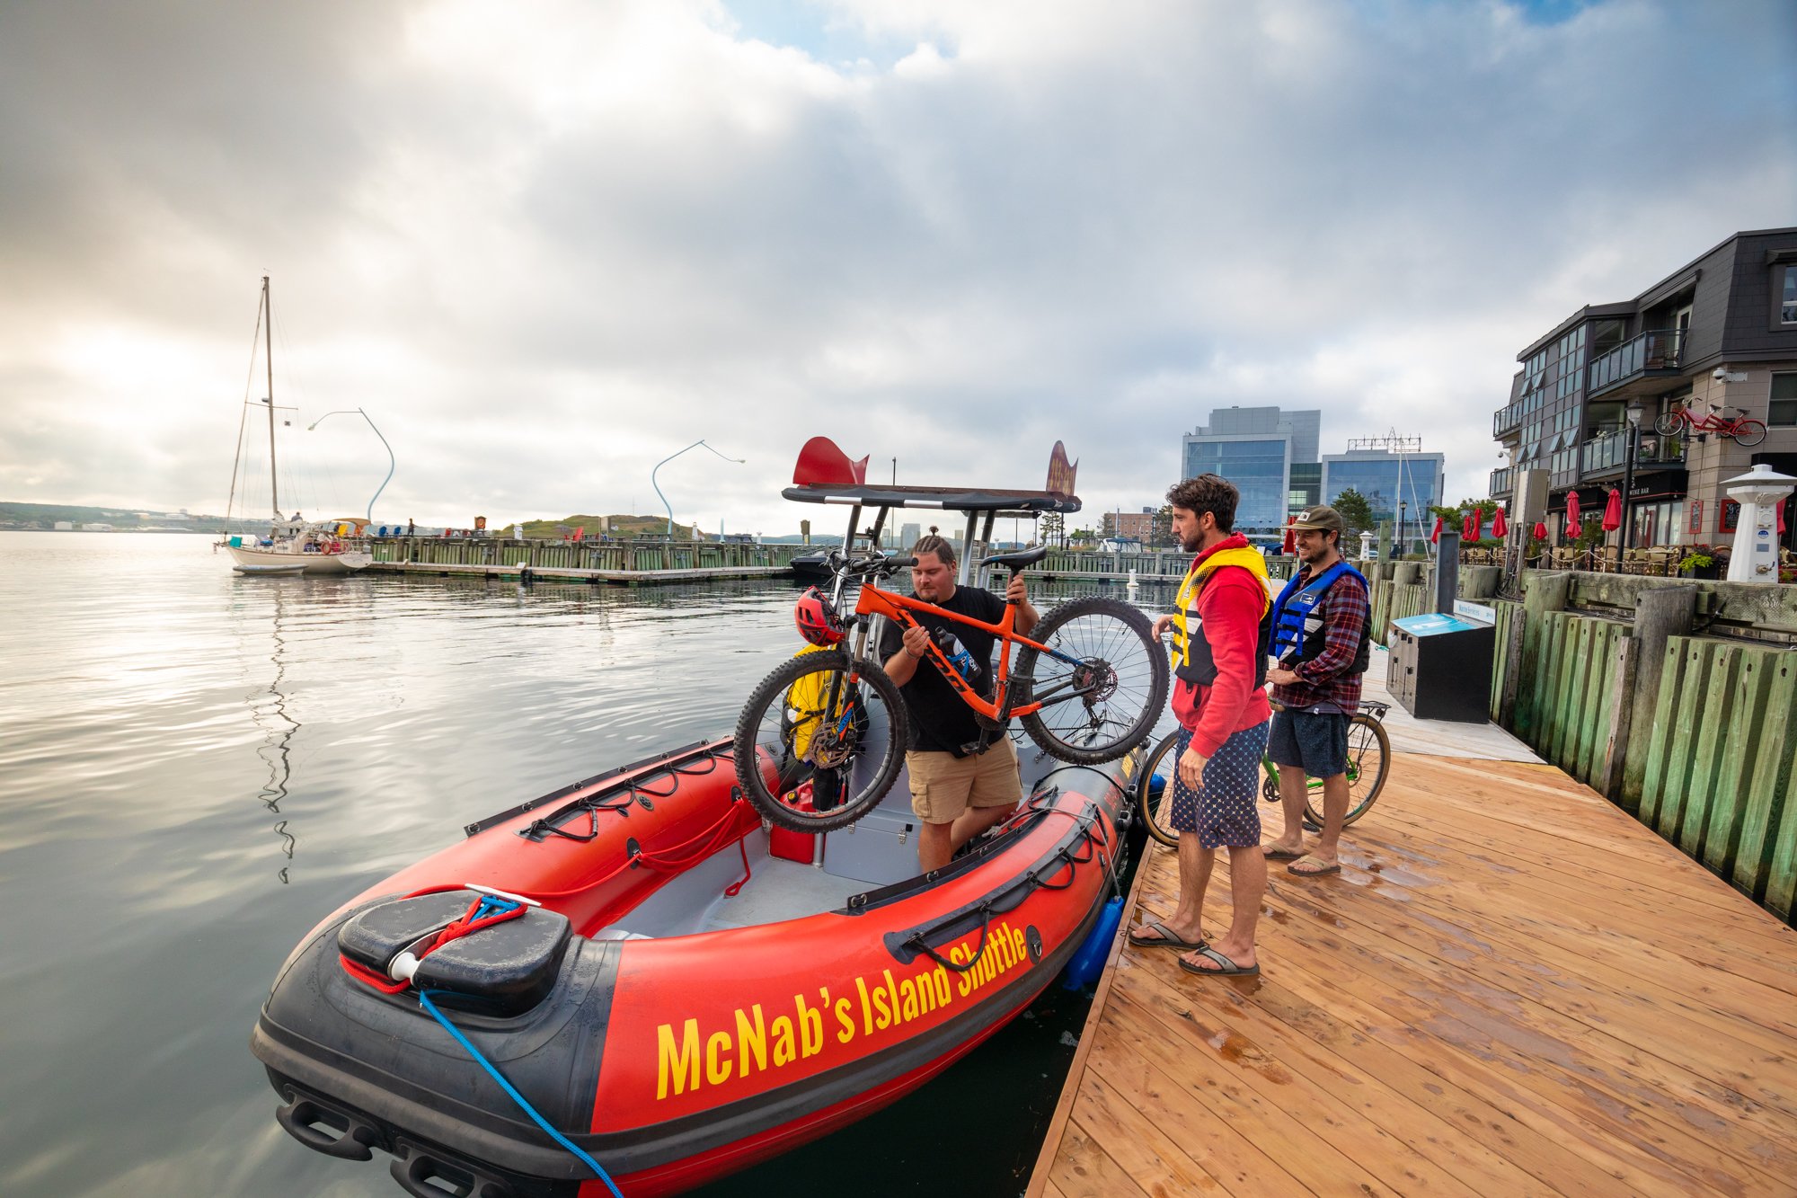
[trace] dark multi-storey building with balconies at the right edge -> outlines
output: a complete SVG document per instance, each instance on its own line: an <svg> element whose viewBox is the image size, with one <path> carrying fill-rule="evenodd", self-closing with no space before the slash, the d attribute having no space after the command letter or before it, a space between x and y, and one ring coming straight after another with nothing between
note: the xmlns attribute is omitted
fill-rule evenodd
<svg viewBox="0 0 1797 1198"><path fill-rule="evenodd" d="M1517 354L1522 369L1492 435L1509 462L1490 491L1508 500L1522 469L1549 471L1549 529L1563 540L1567 496L1601 513L1623 486L1628 412L1641 432L1630 487L1632 545L1716 545L1734 536L1723 486L1757 462L1797 475L1797 227L1738 232L1646 291L1587 304ZM1660 435L1675 405L1765 421L1743 446L1720 434ZM1786 525L1793 525L1786 513ZM1784 545L1793 545L1786 534Z"/></svg>

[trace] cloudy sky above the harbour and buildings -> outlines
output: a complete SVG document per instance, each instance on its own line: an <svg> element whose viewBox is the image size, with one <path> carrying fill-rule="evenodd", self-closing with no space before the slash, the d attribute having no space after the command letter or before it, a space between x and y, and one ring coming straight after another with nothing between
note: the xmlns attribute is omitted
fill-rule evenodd
<svg viewBox="0 0 1797 1198"><path fill-rule="evenodd" d="M1797 223L1793 131L1790 0L20 0L0 500L223 511L264 273L311 511L358 407L420 523L658 511L704 437L676 514L791 531L812 434L1064 439L1096 514L1236 403L1484 495L1517 351Z"/></svg>

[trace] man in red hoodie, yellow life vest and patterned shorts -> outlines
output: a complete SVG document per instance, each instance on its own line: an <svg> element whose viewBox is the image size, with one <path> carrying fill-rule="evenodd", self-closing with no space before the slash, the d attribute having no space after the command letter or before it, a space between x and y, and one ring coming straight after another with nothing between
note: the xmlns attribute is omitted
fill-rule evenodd
<svg viewBox="0 0 1797 1198"><path fill-rule="evenodd" d="M1181 741L1172 779L1172 826L1179 831L1179 907L1168 919L1130 930L1139 948L1184 950L1188 973L1260 973L1254 926L1267 892L1260 847L1260 755L1267 747L1267 644L1272 601L1267 561L1235 532L1236 489L1217 475L1168 489L1173 536L1195 552L1175 613L1155 635L1173 631L1173 716ZM1206 941L1204 890L1217 849L1229 851L1229 930Z"/></svg>

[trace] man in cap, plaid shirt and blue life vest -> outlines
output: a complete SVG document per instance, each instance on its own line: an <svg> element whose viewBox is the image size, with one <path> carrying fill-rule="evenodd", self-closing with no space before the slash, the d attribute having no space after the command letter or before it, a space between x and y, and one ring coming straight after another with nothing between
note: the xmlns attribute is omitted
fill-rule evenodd
<svg viewBox="0 0 1797 1198"><path fill-rule="evenodd" d="M1288 874L1341 872L1337 844L1348 815L1348 720L1360 705L1368 666L1366 579L1341 556L1346 522L1333 507L1312 507L1296 529L1299 572L1274 604L1272 727L1267 755L1279 766L1285 829L1267 844ZM1305 791L1323 779L1323 835L1305 851Z"/></svg>

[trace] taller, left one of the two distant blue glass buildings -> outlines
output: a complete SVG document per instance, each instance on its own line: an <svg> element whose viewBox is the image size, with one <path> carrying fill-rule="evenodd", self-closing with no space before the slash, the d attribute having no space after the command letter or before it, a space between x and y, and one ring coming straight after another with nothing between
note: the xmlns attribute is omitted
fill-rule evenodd
<svg viewBox="0 0 1797 1198"><path fill-rule="evenodd" d="M1215 408L1208 425L1186 434L1181 477L1215 473L1233 482L1242 491L1236 531L1272 540L1292 511L1319 502L1321 437L1321 410Z"/></svg>

